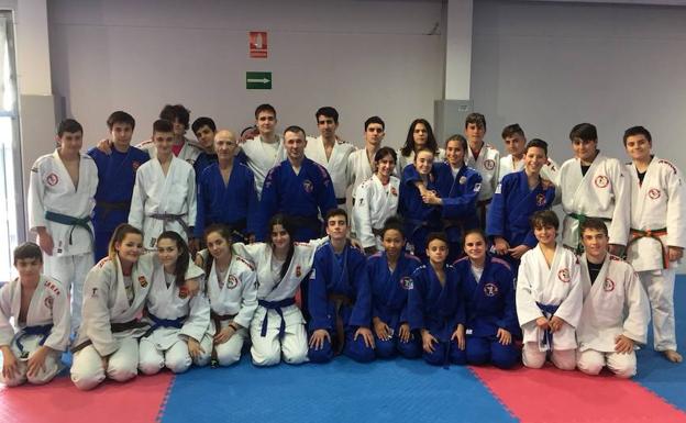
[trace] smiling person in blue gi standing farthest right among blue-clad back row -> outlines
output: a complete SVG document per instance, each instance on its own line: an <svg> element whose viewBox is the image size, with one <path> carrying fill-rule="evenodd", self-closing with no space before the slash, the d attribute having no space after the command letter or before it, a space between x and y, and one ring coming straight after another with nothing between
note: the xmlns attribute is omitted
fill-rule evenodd
<svg viewBox="0 0 686 423"><path fill-rule="evenodd" d="M555 199L553 183L541 178L546 163L547 143L531 140L525 147L524 170L502 178L488 208L486 234L493 240L496 254L510 263L514 275L521 256L538 243L529 218L550 209Z"/></svg>

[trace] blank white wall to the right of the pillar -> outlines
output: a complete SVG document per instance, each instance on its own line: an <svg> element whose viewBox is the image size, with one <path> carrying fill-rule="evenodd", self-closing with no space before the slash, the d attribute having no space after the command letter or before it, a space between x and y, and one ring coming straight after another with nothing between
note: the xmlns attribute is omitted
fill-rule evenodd
<svg viewBox="0 0 686 423"><path fill-rule="evenodd" d="M519 122L562 162L572 126L591 122L600 148L624 159L622 133L641 124L686 170L686 8L476 1L472 66L474 107L499 148Z"/></svg>

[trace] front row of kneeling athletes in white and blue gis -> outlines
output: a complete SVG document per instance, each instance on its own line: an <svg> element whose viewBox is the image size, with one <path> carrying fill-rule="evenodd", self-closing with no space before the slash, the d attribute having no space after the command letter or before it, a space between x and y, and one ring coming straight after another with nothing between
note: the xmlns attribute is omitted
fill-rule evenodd
<svg viewBox="0 0 686 423"><path fill-rule="evenodd" d="M71 379L91 389L106 378L131 379L139 369L181 372L212 359L231 365L248 331L258 366L281 358L325 363L342 353L363 363L421 355L432 365L510 368L519 360L513 339L520 329L528 367L542 367L550 356L563 369L598 374L607 366L631 377L634 345L646 337L643 288L633 269L607 252L602 221L584 223L580 257L556 243L557 226L553 212L534 214L539 244L522 256L514 287L509 264L486 253L478 229L465 234L466 256L453 265L445 235L430 234L429 260L421 265L405 253L396 219L383 230L385 251L366 259L346 238L343 210L327 215L329 237L306 244L291 242L289 223L277 215L269 244L232 245L228 227L209 227L209 254L197 259L203 270L175 232L159 237L157 254L143 254L142 233L122 224L110 256L86 280ZM62 369L68 300L58 282L41 275L35 244L18 247L14 264L20 277L0 290L2 380L44 383ZM307 275L309 336L294 300Z"/></svg>

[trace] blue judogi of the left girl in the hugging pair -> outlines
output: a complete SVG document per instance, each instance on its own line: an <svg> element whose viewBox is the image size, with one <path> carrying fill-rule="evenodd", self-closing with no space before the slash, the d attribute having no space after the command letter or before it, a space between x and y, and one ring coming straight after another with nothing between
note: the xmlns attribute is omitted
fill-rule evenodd
<svg viewBox="0 0 686 423"><path fill-rule="evenodd" d="M408 243L414 248L414 255L425 260L427 236L431 232L443 229L441 221L442 210L440 205L431 205L422 201L421 193L414 186L417 180L419 180L417 168L414 165L407 165L402 170L398 212L405 219L405 233ZM439 190L433 172L429 174L427 189L436 192Z"/></svg>

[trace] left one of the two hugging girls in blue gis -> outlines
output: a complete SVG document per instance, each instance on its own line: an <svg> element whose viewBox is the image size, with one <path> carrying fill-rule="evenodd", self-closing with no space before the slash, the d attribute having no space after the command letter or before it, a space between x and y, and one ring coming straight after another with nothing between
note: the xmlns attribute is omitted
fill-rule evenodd
<svg viewBox="0 0 686 423"><path fill-rule="evenodd" d="M408 248L422 260L427 259L427 235L440 231L441 207L428 204L424 191L436 191L435 176L431 172L434 154L431 149L421 148L414 155L414 163L402 171L400 182L400 200L398 211L405 219ZM414 175L419 177L414 177Z"/></svg>

